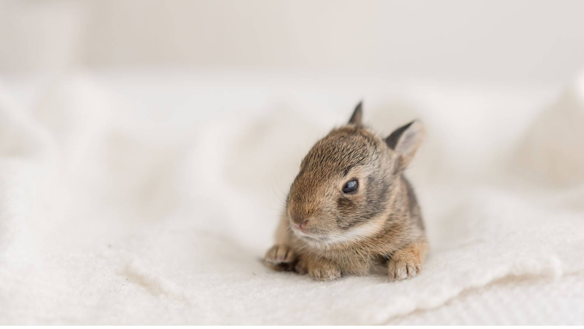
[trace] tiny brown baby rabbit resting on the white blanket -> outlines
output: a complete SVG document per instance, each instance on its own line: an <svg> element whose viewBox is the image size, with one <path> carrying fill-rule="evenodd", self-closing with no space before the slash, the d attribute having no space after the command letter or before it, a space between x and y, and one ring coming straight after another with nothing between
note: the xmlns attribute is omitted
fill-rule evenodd
<svg viewBox="0 0 584 329"><path fill-rule="evenodd" d="M318 280L365 275L387 264L390 279L420 273L427 252L422 214L404 170L425 135L412 121L383 139L361 124L329 132L304 157L265 256L277 270Z"/></svg>

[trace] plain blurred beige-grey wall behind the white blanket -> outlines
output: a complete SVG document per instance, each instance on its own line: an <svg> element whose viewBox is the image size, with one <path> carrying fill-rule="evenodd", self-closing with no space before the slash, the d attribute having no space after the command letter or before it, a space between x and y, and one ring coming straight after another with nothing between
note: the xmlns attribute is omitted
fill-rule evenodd
<svg viewBox="0 0 584 329"><path fill-rule="evenodd" d="M0 2L4 72L72 67L358 70L564 82L581 1Z"/></svg>

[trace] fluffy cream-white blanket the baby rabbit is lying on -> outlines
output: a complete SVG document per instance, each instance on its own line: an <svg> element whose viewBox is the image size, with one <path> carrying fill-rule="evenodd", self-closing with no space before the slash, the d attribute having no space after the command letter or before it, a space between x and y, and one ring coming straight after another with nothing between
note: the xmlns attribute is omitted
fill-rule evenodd
<svg viewBox="0 0 584 329"><path fill-rule="evenodd" d="M260 262L301 157L364 100L427 139L418 277ZM582 324L584 85L84 71L0 80L2 324Z"/></svg>

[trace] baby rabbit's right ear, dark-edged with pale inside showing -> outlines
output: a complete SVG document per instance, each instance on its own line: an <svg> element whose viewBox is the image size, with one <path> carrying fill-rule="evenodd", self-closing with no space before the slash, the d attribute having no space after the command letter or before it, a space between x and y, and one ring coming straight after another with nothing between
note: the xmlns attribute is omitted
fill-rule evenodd
<svg viewBox="0 0 584 329"><path fill-rule="evenodd" d="M405 126L395 129L385 139L385 143L392 150L395 150L402 157L402 169L412 161L416 151L422 145L426 131L424 126L418 120L414 120Z"/></svg>

